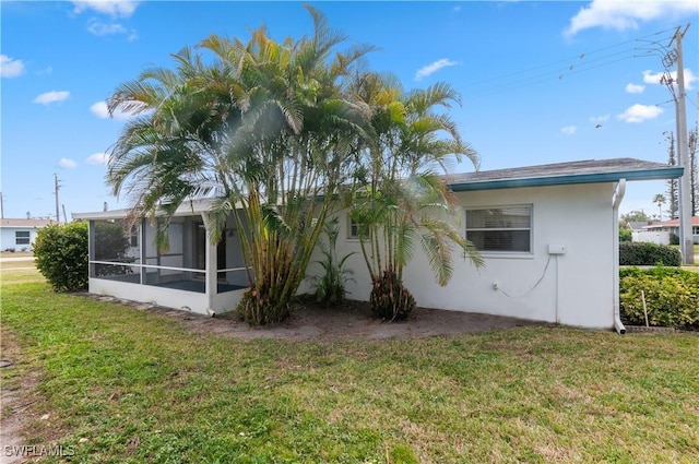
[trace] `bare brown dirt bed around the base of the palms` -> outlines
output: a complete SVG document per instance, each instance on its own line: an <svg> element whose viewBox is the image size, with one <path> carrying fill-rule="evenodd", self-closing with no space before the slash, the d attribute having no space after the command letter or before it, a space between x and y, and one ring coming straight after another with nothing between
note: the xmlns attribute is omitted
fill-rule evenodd
<svg viewBox="0 0 699 464"><path fill-rule="evenodd" d="M328 342L335 340L405 340L486 332L524 325L547 325L545 322L517 318L427 308L416 308L406 321L389 322L372 318L368 302L346 301L332 308L315 302L296 304L291 318L285 322L273 326L251 328L246 322L236 320L230 313L209 318L177 309L110 297L88 296L178 319L197 333L215 333L242 340Z"/></svg>

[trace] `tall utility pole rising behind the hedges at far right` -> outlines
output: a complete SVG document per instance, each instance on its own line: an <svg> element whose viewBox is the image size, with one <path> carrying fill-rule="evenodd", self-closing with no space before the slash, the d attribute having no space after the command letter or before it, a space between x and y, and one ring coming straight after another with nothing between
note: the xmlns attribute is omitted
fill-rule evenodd
<svg viewBox="0 0 699 464"><path fill-rule="evenodd" d="M695 252L691 236L691 166L689 166L688 138L687 138L687 106L685 103L685 67L682 55L682 39L684 38L689 24L684 32L677 27L675 35L670 40L668 47L675 43L677 61L677 95L675 96L675 109L677 119L677 164L685 168L679 178L679 251L682 261L685 264L694 264Z"/></svg>

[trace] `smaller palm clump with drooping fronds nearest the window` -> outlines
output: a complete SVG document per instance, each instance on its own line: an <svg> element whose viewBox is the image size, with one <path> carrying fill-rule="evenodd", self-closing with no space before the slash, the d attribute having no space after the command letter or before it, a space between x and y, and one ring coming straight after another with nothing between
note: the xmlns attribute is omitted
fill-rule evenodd
<svg viewBox="0 0 699 464"><path fill-rule="evenodd" d="M403 285L403 270L416 242L427 254L437 282L452 274L453 246L476 265L482 260L453 225L455 200L443 176L450 156L477 165L476 153L453 121L435 107L459 103L447 84L403 94L390 78L365 74L355 95L365 105L376 132L364 150L357 174L352 217L360 225L362 252L372 282L370 302L376 316L404 319L415 300ZM443 136L446 135L446 136Z"/></svg>

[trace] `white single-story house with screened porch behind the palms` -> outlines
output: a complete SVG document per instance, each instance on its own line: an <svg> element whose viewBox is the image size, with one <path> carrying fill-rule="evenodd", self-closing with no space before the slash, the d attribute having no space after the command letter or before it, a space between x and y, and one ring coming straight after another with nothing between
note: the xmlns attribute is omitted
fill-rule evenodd
<svg viewBox="0 0 699 464"><path fill-rule="evenodd" d="M674 179L682 172L680 167L619 158L452 175L448 181L461 205L460 227L482 250L485 266L475 269L459 252L451 282L440 287L427 258L416 250L404 271L406 287L422 307L623 333L618 207L626 182ZM206 211L206 202L178 210L167 253L153 246L153 225L143 221L139 258L129 263L94 255L99 224L123 221L127 211L74 215L90 221L90 292L204 314L234 309L247 285L240 231L229 218L222 242L209 243ZM346 235L337 240L337 254L358 251L356 225L346 212L340 216ZM347 265L354 271L348 297L367 300L371 283L364 261L357 254Z"/></svg>

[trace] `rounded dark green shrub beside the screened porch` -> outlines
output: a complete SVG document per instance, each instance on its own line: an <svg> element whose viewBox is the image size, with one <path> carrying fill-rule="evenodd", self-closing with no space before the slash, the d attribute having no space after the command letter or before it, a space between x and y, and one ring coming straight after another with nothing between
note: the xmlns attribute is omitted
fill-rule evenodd
<svg viewBox="0 0 699 464"><path fill-rule="evenodd" d="M38 230L36 267L54 290L87 288L87 223L52 224Z"/></svg>

